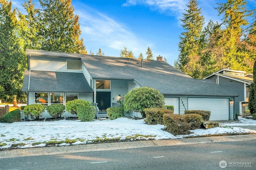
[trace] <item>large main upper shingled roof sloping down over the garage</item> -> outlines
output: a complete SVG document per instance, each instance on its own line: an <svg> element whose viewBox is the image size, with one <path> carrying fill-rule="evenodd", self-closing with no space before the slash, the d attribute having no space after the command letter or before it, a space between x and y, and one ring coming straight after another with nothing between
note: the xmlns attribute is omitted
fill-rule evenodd
<svg viewBox="0 0 256 170"><path fill-rule="evenodd" d="M165 95L237 96L211 80L194 79L164 61L26 50L27 55L79 58L93 79L134 80ZM143 65L143 66L142 66Z"/></svg>

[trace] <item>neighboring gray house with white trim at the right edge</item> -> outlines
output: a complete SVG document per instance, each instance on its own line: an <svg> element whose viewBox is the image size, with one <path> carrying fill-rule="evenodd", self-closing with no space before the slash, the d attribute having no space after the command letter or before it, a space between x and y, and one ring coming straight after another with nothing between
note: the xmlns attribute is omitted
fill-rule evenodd
<svg viewBox="0 0 256 170"><path fill-rule="evenodd" d="M241 115L244 113L244 110L248 109L249 88L250 84L253 82L253 74L246 74L245 71L224 68L203 79L212 80L216 82L216 84L220 84L238 94L238 97L234 100L235 113Z"/></svg>

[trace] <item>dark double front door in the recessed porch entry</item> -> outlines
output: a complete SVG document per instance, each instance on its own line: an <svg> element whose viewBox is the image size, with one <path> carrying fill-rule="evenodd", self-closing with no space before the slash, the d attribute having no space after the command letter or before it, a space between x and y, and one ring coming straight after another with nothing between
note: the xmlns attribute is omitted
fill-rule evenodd
<svg viewBox="0 0 256 170"><path fill-rule="evenodd" d="M98 103L100 111L106 111L110 107L110 94L111 92L96 92L96 103Z"/></svg>

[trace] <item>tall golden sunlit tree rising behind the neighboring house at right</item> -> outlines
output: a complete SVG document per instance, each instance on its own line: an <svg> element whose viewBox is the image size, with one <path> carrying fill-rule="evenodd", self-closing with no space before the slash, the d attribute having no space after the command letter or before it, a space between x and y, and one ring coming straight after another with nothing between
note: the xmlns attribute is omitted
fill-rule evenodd
<svg viewBox="0 0 256 170"><path fill-rule="evenodd" d="M241 37L244 36L248 16L252 12L246 9L246 0L228 0L226 3L218 4L219 15L223 15L222 25L226 29L222 31L220 44L222 44L222 65L233 70L246 70L248 55L240 47Z"/></svg>

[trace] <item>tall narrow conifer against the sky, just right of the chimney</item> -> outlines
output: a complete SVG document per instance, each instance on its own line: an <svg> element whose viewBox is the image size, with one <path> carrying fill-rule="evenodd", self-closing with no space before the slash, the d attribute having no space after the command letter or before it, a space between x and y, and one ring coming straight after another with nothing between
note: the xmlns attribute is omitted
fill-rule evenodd
<svg viewBox="0 0 256 170"><path fill-rule="evenodd" d="M178 45L180 54L174 65L183 72L193 75L196 70L195 63L200 60L200 38L204 17L196 0L190 0L186 6L188 9L181 19L184 32L181 33Z"/></svg>

